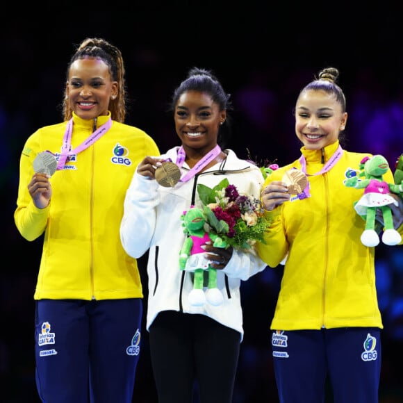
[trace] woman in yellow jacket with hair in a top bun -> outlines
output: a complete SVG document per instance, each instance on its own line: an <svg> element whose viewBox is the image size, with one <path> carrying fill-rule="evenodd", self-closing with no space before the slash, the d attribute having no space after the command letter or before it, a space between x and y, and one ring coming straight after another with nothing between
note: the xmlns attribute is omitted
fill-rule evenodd
<svg viewBox="0 0 403 403"><path fill-rule="evenodd" d="M270 228L258 254L285 261L272 320L272 354L281 403L322 403L329 376L335 403L377 403L383 327L375 288L374 247L361 242L354 210L363 190L345 179L370 154L343 150L345 96L328 68L299 93L297 161L274 170L262 191ZM356 172L357 174L357 172ZM390 170L385 181L393 183ZM391 205L403 233L402 199Z"/></svg>

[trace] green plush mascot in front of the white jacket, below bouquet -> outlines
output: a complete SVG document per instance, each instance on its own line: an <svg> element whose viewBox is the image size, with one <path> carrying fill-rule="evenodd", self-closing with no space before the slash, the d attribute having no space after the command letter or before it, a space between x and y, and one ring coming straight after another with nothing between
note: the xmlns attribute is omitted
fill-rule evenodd
<svg viewBox="0 0 403 403"><path fill-rule="evenodd" d="M189 294L192 306L202 306L206 301L211 305L222 304L224 297L217 288L217 270L210 265L206 252L201 247L207 242L213 242L215 247L225 247L225 242L216 234L207 233L204 224L206 217L203 210L195 206L181 215L184 232L188 234L179 255L179 268L194 272L193 290ZM208 284L204 293L204 272L208 272Z"/></svg>

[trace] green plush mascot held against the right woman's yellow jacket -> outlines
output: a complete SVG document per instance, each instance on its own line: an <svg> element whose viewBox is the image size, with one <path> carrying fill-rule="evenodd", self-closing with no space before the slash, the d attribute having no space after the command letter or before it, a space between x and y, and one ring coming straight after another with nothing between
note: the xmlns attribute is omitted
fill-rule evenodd
<svg viewBox="0 0 403 403"><path fill-rule="evenodd" d="M398 206L390 192L399 195L402 192L402 184L384 181L383 175L388 172L388 169L389 164L384 156L367 156L361 161L359 175L349 177L344 181L345 186L349 188L364 189L363 196L354 203L354 208L365 220L365 230L361 234L361 242L368 247L379 244L379 235L375 231L378 208L384 217L382 242L385 245L397 245L402 241L400 233L393 228L393 217L390 210L390 204Z"/></svg>

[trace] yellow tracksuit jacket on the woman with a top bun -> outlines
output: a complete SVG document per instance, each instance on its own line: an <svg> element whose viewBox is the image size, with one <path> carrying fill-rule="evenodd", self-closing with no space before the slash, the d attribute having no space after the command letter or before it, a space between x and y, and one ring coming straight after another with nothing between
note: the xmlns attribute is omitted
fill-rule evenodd
<svg viewBox="0 0 403 403"><path fill-rule="evenodd" d="M325 162L338 145L324 149ZM320 172L321 151L301 151L306 172ZM383 327L375 288L375 247L361 243L365 221L353 207L363 189L343 184L347 170L358 170L365 155L370 156L343 151L329 172L309 176L311 197L292 197L265 212L271 225L265 233L267 245L257 245L259 256L274 268L287 255L271 329ZM291 167L301 169L299 160L275 170L264 186L281 181ZM384 180L393 183L390 170ZM398 231L402 234L403 226Z"/></svg>

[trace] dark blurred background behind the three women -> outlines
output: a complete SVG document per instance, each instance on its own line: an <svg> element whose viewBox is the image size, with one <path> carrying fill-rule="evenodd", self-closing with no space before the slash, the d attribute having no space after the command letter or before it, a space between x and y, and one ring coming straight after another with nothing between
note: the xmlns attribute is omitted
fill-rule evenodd
<svg viewBox="0 0 403 403"><path fill-rule="evenodd" d="M394 169L403 153L403 28L393 4L354 2L354 10L353 3L343 1L60 3L58 10L43 1L8 4L0 26L0 183L6 227L0 402L39 402L33 293L42 238L24 240L13 212L19 154L28 135L62 119L65 72L74 45L101 36L120 47L130 99L126 123L147 131L161 151L178 144L173 118L166 113L172 91L189 67L213 69L235 107L229 148L256 163L279 165L299 156L293 118L299 90L323 67L337 67L349 112L345 148L383 154ZM379 245L376 262L385 327L379 401L403 402L402 246ZM146 285L145 258L140 268ZM278 402L269 328L281 270L268 268L242 283L245 339L234 403ZM143 329L136 403L157 401L147 343ZM219 376L213 368L212 375ZM327 402L332 401L330 391L329 386Z"/></svg>

